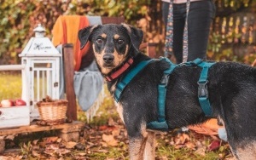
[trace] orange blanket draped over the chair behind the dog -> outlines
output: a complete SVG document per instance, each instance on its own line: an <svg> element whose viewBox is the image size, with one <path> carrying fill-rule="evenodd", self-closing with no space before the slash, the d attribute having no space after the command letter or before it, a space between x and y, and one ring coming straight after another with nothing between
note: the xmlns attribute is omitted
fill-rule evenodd
<svg viewBox="0 0 256 160"><path fill-rule="evenodd" d="M89 26L86 16L80 15L61 15L55 22L52 30L52 43L55 47L59 44L73 43L74 70L79 71L82 57L90 49L87 43L84 49L80 50L79 30Z"/></svg>

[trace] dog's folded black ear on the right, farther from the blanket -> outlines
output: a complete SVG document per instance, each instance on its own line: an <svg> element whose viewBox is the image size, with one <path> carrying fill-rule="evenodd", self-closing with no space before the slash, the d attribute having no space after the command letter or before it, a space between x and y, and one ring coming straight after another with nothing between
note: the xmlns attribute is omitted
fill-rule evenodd
<svg viewBox="0 0 256 160"><path fill-rule="evenodd" d="M137 50L137 52L139 52L140 45L143 42L143 31L125 23L122 23L122 26L124 26L129 32L132 46Z"/></svg>

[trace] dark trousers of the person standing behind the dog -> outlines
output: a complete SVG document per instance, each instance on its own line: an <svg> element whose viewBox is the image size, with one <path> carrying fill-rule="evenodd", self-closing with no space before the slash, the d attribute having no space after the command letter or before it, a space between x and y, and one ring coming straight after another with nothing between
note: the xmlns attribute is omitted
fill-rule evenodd
<svg viewBox="0 0 256 160"><path fill-rule="evenodd" d="M163 2L162 12L166 22L169 3ZM212 0L190 3L188 17L189 53L188 61L196 58L206 59L207 44L212 20L215 17L215 5ZM186 19L186 3L173 4L173 54L176 62L183 61L183 29Z"/></svg>

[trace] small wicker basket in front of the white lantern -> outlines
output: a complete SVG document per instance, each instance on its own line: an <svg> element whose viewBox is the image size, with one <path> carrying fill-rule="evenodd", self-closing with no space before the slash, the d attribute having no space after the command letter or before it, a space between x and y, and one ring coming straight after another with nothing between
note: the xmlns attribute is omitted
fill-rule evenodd
<svg viewBox="0 0 256 160"><path fill-rule="evenodd" d="M47 123L63 122L66 118L67 100L39 101L39 115Z"/></svg>

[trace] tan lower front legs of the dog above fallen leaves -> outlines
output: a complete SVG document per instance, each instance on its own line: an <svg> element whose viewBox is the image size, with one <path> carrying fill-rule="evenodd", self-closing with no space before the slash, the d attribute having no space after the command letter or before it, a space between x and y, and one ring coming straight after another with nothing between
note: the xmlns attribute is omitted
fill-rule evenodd
<svg viewBox="0 0 256 160"><path fill-rule="evenodd" d="M147 132L137 138L129 139L131 160L154 160L155 134Z"/></svg>

